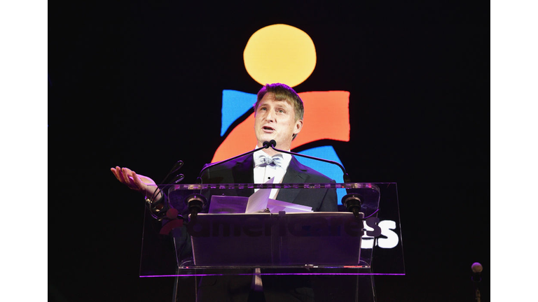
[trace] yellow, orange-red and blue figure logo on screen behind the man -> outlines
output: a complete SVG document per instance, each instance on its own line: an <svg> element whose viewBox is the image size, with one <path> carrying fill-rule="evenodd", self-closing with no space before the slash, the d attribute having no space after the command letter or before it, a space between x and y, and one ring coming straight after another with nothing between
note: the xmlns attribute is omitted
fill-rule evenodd
<svg viewBox="0 0 538 302"><path fill-rule="evenodd" d="M301 29L286 24L274 24L256 31L244 50L245 69L261 85L273 82L282 82L290 87L299 85L314 71L316 59L315 45L310 36ZM350 92L298 94L305 106L304 127L293 141L291 151L315 141L350 141ZM221 136L226 138L214 153L212 162L234 157L256 147L254 103L256 93L223 90ZM251 113L247 115L249 111ZM332 145L322 145L299 153L342 164ZM338 166L304 157L297 159L336 182L343 182L343 173ZM339 202L343 195L345 190L338 192Z"/></svg>

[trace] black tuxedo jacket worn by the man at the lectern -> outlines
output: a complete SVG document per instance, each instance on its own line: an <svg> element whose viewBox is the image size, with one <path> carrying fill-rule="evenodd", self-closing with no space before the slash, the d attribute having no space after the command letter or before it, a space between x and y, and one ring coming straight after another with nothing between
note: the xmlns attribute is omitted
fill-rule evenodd
<svg viewBox="0 0 538 302"><path fill-rule="evenodd" d="M200 178L205 184L254 183L254 156L247 154L223 164L214 164L203 171ZM293 156L282 179L282 183L327 182L334 182L334 180L299 163ZM232 191L212 189L212 192L206 193L206 197L209 201L210 195L213 194L235 194L235 196L251 196L254 194L254 189ZM275 199L310 206L314 212L338 212L336 189L280 189Z"/></svg>

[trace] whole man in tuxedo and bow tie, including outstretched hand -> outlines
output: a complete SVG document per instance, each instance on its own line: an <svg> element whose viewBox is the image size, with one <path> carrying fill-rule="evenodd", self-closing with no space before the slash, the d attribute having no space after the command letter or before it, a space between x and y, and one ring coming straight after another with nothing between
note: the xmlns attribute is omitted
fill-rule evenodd
<svg viewBox="0 0 538 302"><path fill-rule="evenodd" d="M276 141L276 148L291 150L291 141L303 129L303 101L291 87L275 83L263 86L254 104L256 148ZM131 189L163 198L154 192L151 178L137 175L128 168L111 168L116 178ZM333 182L322 173L300 164L290 154L266 148L222 164L202 169L204 183L326 183ZM155 193L155 194L154 194ZM254 189L242 189L237 196L250 196ZM312 207L313 211L337 212L336 189L271 189L270 199ZM251 275L202 278L198 290L201 301L314 301L308 276L264 276L256 269Z"/></svg>

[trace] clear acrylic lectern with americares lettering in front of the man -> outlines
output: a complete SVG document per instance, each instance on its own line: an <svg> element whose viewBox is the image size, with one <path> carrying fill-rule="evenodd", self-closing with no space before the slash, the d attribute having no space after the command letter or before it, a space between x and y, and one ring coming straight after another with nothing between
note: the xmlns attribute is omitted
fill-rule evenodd
<svg viewBox="0 0 538 302"><path fill-rule="evenodd" d="M315 301L376 301L374 275L405 275L395 183L158 187L166 199L146 210L140 277L175 278L174 302L199 301L202 278L253 273L262 280L307 278ZM193 196L235 196L253 188L345 190L359 196L361 210L350 213L340 204L330 213L209 214L209 199L189 215Z"/></svg>

